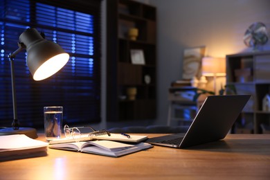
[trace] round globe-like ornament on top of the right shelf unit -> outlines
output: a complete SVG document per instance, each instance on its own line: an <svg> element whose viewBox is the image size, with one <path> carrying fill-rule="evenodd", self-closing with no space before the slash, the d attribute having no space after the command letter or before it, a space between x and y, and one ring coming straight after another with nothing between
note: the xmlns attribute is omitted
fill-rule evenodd
<svg viewBox="0 0 270 180"><path fill-rule="evenodd" d="M264 45L268 41L267 28L262 22L251 24L244 33L244 44L256 50L259 45Z"/></svg>

